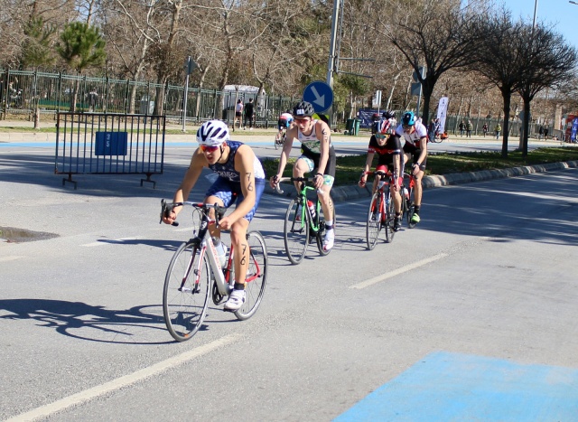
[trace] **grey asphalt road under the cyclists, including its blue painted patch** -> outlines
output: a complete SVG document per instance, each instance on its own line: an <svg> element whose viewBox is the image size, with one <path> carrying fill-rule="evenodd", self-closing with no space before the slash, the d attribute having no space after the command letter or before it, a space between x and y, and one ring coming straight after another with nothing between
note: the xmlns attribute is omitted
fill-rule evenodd
<svg viewBox="0 0 578 422"><path fill-rule="evenodd" d="M577 414L576 169L428 190L418 227L373 251L368 201L340 202L334 250L296 267L288 200L266 195L251 224L271 266L257 314L241 323L210 305L203 329L175 343L163 277L189 224L183 213L179 228L159 225L158 213L186 149L167 150L156 189L80 175L74 191L52 162L50 149L0 149L0 226L58 235L0 243L1 419Z"/></svg>

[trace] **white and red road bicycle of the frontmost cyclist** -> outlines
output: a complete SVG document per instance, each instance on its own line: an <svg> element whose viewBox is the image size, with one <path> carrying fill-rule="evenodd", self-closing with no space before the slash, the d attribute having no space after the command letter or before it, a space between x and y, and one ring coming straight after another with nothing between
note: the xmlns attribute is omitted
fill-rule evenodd
<svg viewBox="0 0 578 422"><path fill-rule="evenodd" d="M193 237L174 252L164 278L163 315L172 338L184 342L199 331L207 314L209 297L213 304L220 305L233 290L235 269L233 257L234 245L228 255L219 257L214 240L210 236L209 226L216 224L227 209L217 204L196 202L165 202L162 200L162 213L168 213L174 207L189 205L194 213L200 212L199 231L193 231ZM210 218L209 211L215 211L216 220ZM177 221L172 223L178 225ZM265 239L256 230L247 232L249 245L249 266L245 279L245 303L234 312L239 320L247 320L256 313L265 293L268 258ZM221 262L222 261L222 262Z"/></svg>

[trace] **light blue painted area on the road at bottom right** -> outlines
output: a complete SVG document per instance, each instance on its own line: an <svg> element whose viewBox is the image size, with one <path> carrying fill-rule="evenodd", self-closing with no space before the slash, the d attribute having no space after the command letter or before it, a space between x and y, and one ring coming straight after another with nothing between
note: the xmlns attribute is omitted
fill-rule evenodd
<svg viewBox="0 0 578 422"><path fill-rule="evenodd" d="M334 420L578 421L578 370L434 352Z"/></svg>

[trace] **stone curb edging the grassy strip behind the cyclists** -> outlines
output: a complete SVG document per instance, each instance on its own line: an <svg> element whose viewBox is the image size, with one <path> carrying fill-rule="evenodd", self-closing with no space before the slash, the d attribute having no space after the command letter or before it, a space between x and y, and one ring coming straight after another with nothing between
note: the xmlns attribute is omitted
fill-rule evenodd
<svg viewBox="0 0 578 422"><path fill-rule="evenodd" d="M473 182L483 182L492 179L505 179L506 177L517 177L533 173L553 172L555 170L564 170L567 168L578 167L578 161L567 161L562 163L536 164L524 165L521 167L512 167L498 170L482 170L480 172L469 173L451 173L443 175L425 176L422 179L424 189L440 188L443 186L450 186L452 184L463 184ZM280 196L294 197L294 186L291 184L282 184L284 193ZM279 195L267 184L265 193L272 195ZM368 198L371 195L371 190L366 186L360 188L358 185L335 186L331 189L331 198L333 202L345 202L356 200L360 198Z"/></svg>

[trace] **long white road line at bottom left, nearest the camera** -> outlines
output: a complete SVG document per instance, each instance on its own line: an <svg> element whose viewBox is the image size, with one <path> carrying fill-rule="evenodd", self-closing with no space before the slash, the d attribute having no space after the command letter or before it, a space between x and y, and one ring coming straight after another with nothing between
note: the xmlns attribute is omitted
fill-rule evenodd
<svg viewBox="0 0 578 422"><path fill-rule="evenodd" d="M219 340L202 345L191 351L173 356L172 358L169 358L166 361L160 361L142 370L137 370L132 374L128 374L125 375L124 377L117 378L117 380L105 382L104 384L101 384L99 386L93 387L91 389L85 389L84 391L80 391L77 394L73 394L64 399L57 400L49 405L41 406L40 408L35 408L29 412L21 413L20 415L7 419L6 422L15 422L23 420L28 421L28 420L36 420L42 417L50 417L52 414L56 412L61 412L66 408L78 406L89 400L96 399L98 396L102 396L112 391L116 391L117 389L123 389L129 385L135 384L136 382L145 380L149 377L153 377L154 375L160 374L167 370L171 370L176 366L182 365L182 363L186 361L191 361L191 359L212 352L215 349L218 349L219 347L222 347L228 343L236 342L239 337L240 337L239 334L227 335Z"/></svg>

